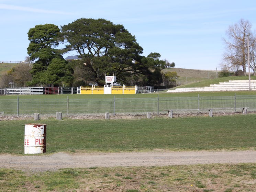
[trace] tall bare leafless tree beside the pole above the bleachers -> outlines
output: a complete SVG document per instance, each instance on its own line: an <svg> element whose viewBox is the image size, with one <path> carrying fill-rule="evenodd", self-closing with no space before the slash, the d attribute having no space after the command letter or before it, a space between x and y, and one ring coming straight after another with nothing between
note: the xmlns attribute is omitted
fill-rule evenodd
<svg viewBox="0 0 256 192"><path fill-rule="evenodd" d="M226 51L223 54L223 68L231 69L232 67L241 66L246 75L247 64L247 35L251 33L252 24L241 19L238 23L230 25L226 31L228 39L223 41Z"/></svg>

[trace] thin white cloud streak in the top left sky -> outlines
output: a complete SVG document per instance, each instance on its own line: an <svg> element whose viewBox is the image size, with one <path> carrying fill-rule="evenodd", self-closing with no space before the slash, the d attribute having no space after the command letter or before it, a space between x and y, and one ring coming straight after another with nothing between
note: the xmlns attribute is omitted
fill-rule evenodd
<svg viewBox="0 0 256 192"><path fill-rule="evenodd" d="M63 12L63 11L35 9L35 8L31 8L31 7L21 7L21 6L8 5L8 4L0 4L0 9L35 12L35 13L71 14L71 13L67 13L67 12Z"/></svg>

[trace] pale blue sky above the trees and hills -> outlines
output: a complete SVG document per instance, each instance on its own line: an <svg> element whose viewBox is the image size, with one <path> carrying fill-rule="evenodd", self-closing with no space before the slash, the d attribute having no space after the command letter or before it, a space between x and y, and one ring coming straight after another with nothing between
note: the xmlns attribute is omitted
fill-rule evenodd
<svg viewBox="0 0 256 192"><path fill-rule="evenodd" d="M177 68L221 70L223 38L241 19L256 30L253 0L0 0L0 61L23 61L27 32L51 23L59 28L80 18L122 24L143 48ZM63 55L66 58L76 53Z"/></svg>

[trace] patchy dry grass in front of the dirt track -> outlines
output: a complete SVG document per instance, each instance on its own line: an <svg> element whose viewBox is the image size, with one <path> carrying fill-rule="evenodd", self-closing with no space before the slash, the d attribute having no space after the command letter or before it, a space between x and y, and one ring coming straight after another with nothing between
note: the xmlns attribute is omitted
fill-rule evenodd
<svg viewBox="0 0 256 192"><path fill-rule="evenodd" d="M0 173L2 191L228 192L256 189L256 163L92 167L42 173L0 169Z"/></svg>

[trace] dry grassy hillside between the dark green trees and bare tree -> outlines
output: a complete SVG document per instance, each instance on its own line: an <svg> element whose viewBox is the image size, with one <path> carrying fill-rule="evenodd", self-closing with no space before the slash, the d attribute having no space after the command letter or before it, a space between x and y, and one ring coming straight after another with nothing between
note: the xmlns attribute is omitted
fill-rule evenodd
<svg viewBox="0 0 256 192"><path fill-rule="evenodd" d="M177 85L183 85L193 82L199 82L206 79L217 78L216 71L212 70L196 70L196 69L182 69L182 68L166 68L162 72L176 71L179 76Z"/></svg>

